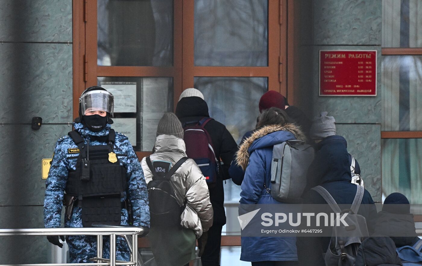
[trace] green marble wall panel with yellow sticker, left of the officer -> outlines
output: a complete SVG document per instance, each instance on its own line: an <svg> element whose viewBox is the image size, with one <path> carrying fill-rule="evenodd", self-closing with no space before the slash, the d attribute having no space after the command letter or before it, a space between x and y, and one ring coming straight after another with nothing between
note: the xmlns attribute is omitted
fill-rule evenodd
<svg viewBox="0 0 422 266"><path fill-rule="evenodd" d="M71 125L0 125L0 205L43 205L46 180L41 160L51 158L60 137ZM1 217L1 216L0 216Z"/></svg>

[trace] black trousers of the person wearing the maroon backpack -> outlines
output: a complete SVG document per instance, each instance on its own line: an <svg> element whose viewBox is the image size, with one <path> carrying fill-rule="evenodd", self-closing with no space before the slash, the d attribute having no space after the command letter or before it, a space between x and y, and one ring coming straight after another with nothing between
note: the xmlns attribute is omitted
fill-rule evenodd
<svg viewBox="0 0 422 266"><path fill-rule="evenodd" d="M202 266L220 266L221 230L223 226L214 224L208 230L207 244L201 257Z"/></svg>

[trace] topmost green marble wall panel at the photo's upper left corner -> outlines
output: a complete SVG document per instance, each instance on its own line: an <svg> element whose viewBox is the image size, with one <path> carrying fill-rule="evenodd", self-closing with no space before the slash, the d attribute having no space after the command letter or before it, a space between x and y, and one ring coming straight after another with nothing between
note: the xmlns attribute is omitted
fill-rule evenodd
<svg viewBox="0 0 422 266"><path fill-rule="evenodd" d="M0 41L72 42L72 0L2 0Z"/></svg>

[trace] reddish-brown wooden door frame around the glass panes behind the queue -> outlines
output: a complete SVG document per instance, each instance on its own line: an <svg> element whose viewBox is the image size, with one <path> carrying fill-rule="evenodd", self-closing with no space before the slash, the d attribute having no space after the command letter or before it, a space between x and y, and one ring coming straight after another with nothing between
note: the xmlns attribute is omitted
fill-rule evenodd
<svg viewBox="0 0 422 266"><path fill-rule="evenodd" d="M106 67L97 66L97 0L73 0L73 118L78 117L79 96L86 87L97 85L97 76L173 76L174 108L183 89L193 87L195 76L270 76L268 89L279 91L289 97L289 102L295 103L294 88L295 84L299 84L300 76L299 70L295 69L295 64L298 64L298 49L296 48L298 29L295 29L294 25L298 25L300 11L298 5L294 5L294 0L268 0L267 67L195 67L193 61L194 2L193 0L174 0L173 4L173 67ZM191 22L186 24L186 21ZM185 27L183 33L189 32L192 38L176 40L176 36L182 36L183 26ZM86 36L89 36L89 40ZM282 45L283 43L285 45ZM189 49L192 53L183 53ZM85 57L86 54L87 57ZM278 56L271 56L273 54ZM182 73L182 66L185 73ZM188 75L182 76L186 72ZM149 152L136 153L139 159L150 154ZM145 238L141 238L139 243L139 247L149 246ZM240 236L222 236L222 246L240 246L240 244Z"/></svg>

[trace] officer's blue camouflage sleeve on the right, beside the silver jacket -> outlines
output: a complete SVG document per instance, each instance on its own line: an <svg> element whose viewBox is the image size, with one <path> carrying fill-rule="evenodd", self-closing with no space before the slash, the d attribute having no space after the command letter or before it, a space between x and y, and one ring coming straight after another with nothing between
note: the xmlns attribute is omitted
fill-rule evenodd
<svg viewBox="0 0 422 266"><path fill-rule="evenodd" d="M133 226L149 228L149 202L141 164L129 141L127 142L127 187L132 203Z"/></svg>

